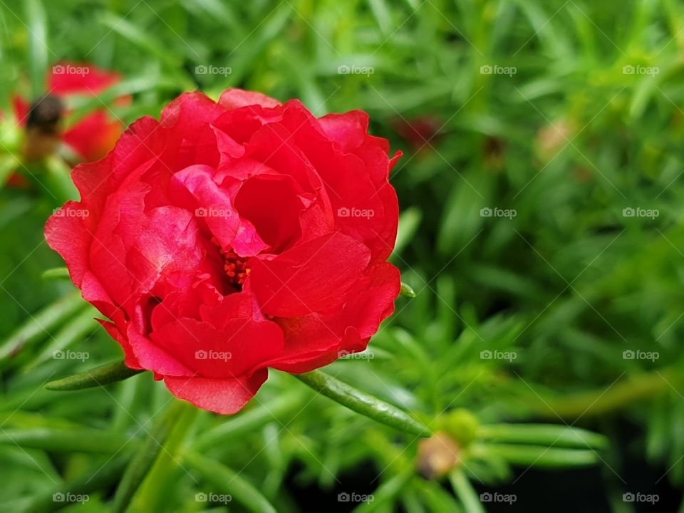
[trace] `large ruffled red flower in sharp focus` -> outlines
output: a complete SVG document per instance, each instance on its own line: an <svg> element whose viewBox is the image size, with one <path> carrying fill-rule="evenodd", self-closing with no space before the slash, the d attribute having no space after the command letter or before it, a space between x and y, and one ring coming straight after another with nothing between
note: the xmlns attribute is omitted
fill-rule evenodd
<svg viewBox="0 0 684 513"><path fill-rule="evenodd" d="M358 110L185 93L73 170L81 202L48 220L48 244L128 366L235 413L267 368L362 351L394 310L399 154L367 130Z"/></svg>

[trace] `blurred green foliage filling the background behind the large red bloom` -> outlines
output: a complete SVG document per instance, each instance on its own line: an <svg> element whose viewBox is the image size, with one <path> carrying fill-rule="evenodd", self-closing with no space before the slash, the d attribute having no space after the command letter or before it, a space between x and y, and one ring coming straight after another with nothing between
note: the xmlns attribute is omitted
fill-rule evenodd
<svg viewBox="0 0 684 513"><path fill-rule="evenodd" d="M684 511L682 1L0 4L5 113L13 94L42 93L53 63L90 62L122 81L74 98L73 119L106 105L130 123L185 90L240 87L319 115L361 108L405 152L390 179L403 212L392 259L418 296L398 299L366 358L328 371L475 432L458 440L458 472L419 477L414 437L274 372L232 420L186 411L196 418L131 511L632 512L653 509L648 494ZM110 511L170 399L142 375L43 390L120 356L71 285L41 277L62 264L42 235L58 206L45 187L0 191L0 336L33 333L18 353L0 346L1 511ZM53 358L67 349L88 358ZM608 444L579 444L573 459L531 428L534 443L497 445L473 419L582 427ZM53 499L69 490L88 502Z"/></svg>

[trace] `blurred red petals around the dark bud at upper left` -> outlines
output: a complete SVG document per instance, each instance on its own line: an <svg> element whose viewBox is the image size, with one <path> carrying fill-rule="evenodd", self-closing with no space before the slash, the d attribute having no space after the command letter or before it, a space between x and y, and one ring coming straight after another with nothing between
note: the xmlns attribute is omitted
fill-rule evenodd
<svg viewBox="0 0 684 513"><path fill-rule="evenodd" d="M103 71L90 64L59 63L51 68L46 94L62 99L70 95L95 96L119 81L118 73ZM19 124L26 125L30 106L28 101L15 96L13 103ZM122 131L123 124L118 120L110 120L103 108L84 116L61 137L81 160L90 162L107 155Z"/></svg>

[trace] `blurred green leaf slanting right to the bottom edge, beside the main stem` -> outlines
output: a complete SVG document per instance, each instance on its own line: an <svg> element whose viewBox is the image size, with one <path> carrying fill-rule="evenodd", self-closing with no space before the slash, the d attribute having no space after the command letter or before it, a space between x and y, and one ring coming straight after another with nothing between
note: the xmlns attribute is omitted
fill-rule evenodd
<svg viewBox="0 0 684 513"><path fill-rule="evenodd" d="M252 483L237 472L195 452L187 452L184 460L195 467L205 480L240 502L254 513L276 513L276 509Z"/></svg>

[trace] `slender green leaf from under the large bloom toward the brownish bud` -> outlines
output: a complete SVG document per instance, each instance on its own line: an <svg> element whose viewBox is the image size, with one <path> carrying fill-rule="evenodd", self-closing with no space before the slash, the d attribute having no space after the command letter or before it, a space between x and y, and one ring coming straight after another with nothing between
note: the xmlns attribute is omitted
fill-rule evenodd
<svg viewBox="0 0 684 513"><path fill-rule="evenodd" d="M432 435L430 429L420 423L419 420L408 415L390 403L373 397L361 390L357 390L346 383L336 380L331 375L321 371L313 371L304 374L293 374L302 383L306 383L318 393L325 395L332 400L336 400L346 408L366 415L368 418L394 427L403 432L421 437Z"/></svg>

